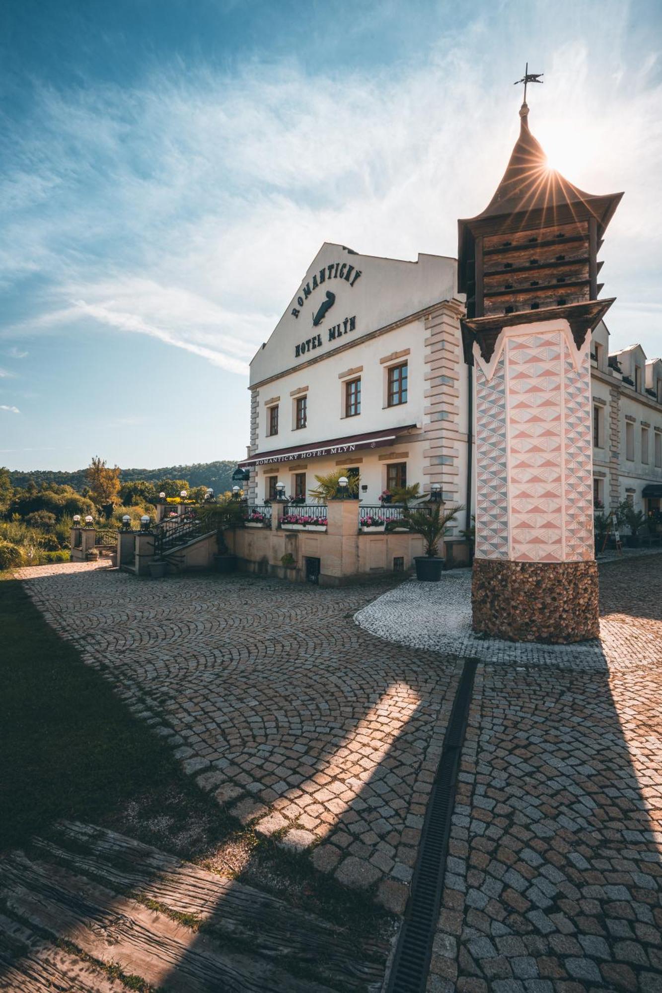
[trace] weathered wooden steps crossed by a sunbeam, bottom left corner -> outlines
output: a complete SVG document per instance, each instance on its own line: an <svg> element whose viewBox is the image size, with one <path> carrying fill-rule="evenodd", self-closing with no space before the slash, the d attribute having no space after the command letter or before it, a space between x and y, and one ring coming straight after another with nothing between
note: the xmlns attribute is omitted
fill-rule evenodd
<svg viewBox="0 0 662 993"><path fill-rule="evenodd" d="M0 990L376 993L386 952L89 824L0 860Z"/></svg>

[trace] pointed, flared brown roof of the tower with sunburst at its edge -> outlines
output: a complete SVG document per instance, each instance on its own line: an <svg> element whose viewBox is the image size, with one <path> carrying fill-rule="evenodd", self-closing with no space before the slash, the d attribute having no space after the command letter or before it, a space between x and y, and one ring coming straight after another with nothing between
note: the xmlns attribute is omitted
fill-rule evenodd
<svg viewBox="0 0 662 993"><path fill-rule="evenodd" d="M464 263L479 232L527 230L592 216L601 238L622 196L584 193L550 169L540 142L529 130L529 107L523 103L520 134L496 193L482 213L457 222L460 290L464 289Z"/></svg>

